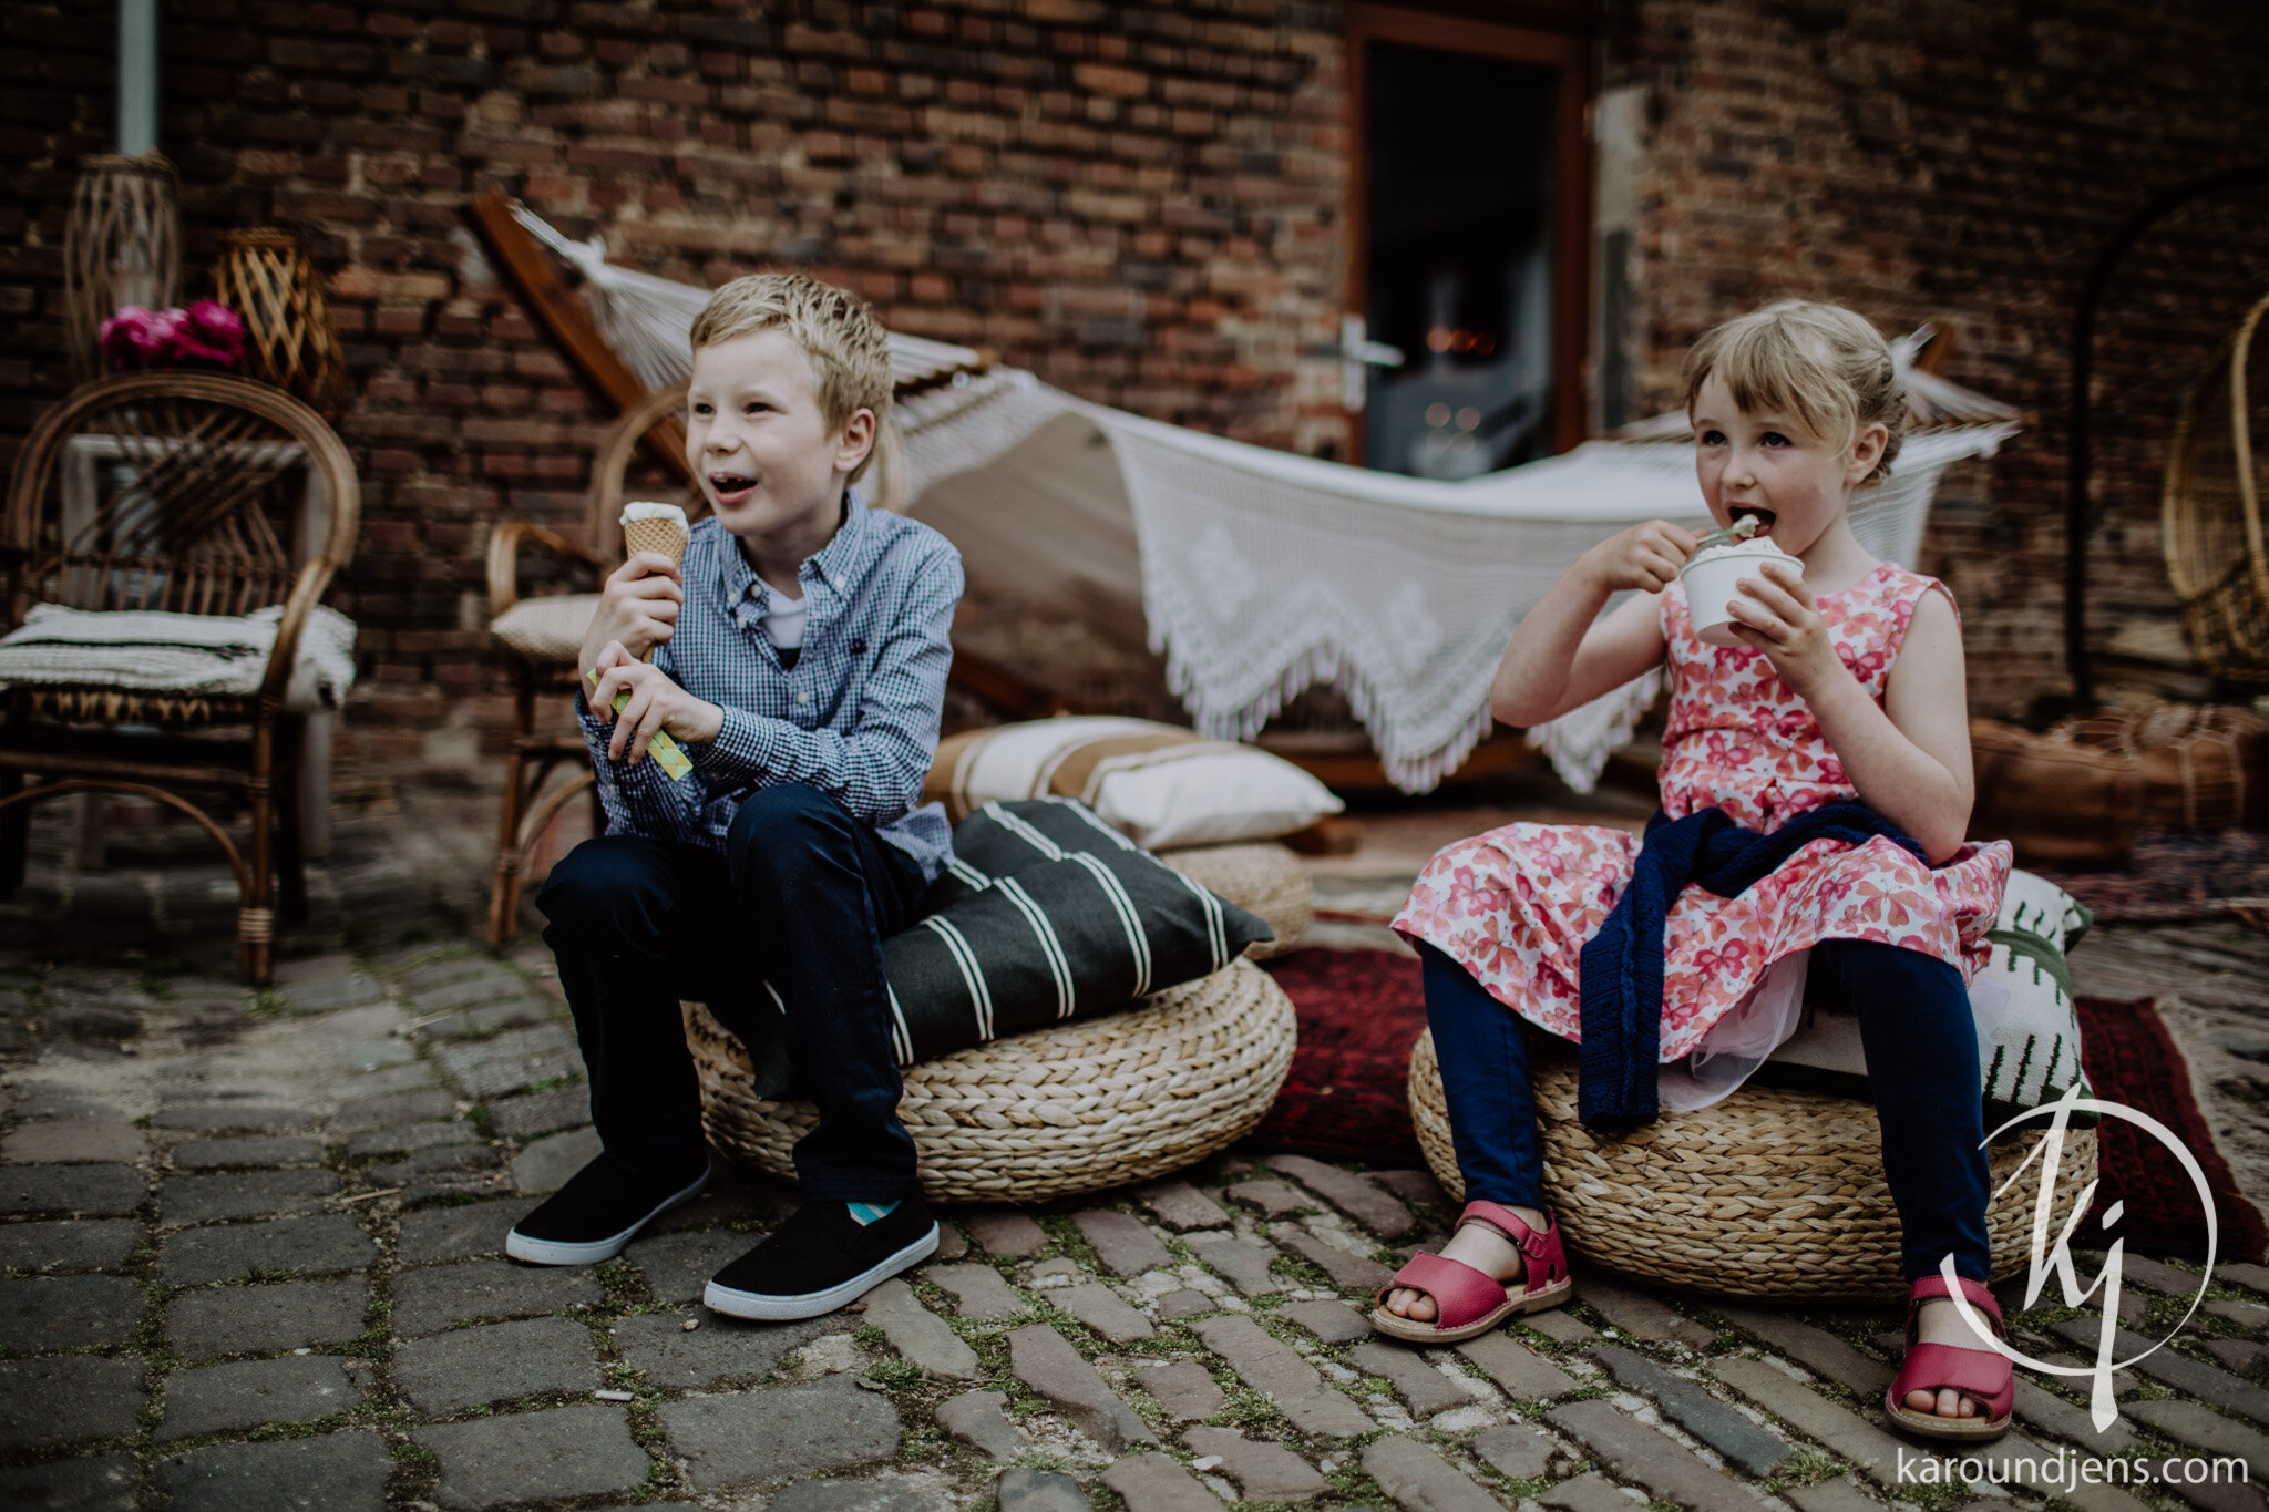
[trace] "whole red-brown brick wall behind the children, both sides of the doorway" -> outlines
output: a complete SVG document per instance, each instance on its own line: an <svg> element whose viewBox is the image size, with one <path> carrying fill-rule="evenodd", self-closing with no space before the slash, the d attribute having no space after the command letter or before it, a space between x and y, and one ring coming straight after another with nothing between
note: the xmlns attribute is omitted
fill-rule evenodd
<svg viewBox="0 0 2269 1512"><path fill-rule="evenodd" d="M349 725L372 757L492 739L488 526L576 524L604 426L463 231L458 206L490 184L667 277L810 265L896 326L1107 404L1302 451L1346 440L1336 5L163 11L188 283L222 229L297 227L347 340L343 431L368 494L340 601L363 623ZM0 27L0 172L20 186L0 202L9 449L64 388L59 245L77 161L109 145L111 34L107 14L84 25L43 0ZM1643 410L1697 331L1772 295L1838 297L1886 326L1949 317L1949 376L2033 419L1949 476L1931 567L1969 617L1974 703L2053 694L2072 301L2135 204L2269 141L2262 23L2212 0L1611 0L1597 36L1602 84L1647 104ZM2106 311L2097 623L2158 657L2158 467L2178 392L2269 288L2258 209L2169 222Z"/></svg>

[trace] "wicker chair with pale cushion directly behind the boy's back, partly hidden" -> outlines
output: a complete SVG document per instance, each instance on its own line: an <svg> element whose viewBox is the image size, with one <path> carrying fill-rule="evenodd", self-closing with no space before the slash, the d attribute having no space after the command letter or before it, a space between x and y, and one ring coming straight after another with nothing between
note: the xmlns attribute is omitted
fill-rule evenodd
<svg viewBox="0 0 2269 1512"><path fill-rule="evenodd" d="M565 703L576 689L576 653L599 610L597 592L524 592L522 546L549 560L551 587L594 587L622 562L624 472L647 431L674 428L685 408L685 385L647 397L626 413L590 465L583 542L524 519L506 519L488 537L488 612L497 651L513 676L513 737L504 764L504 812L497 818L497 868L488 889L488 941L504 945L520 932L520 884L529 848L576 793L592 789L590 759L574 732L547 734L538 728L538 700ZM699 490L672 496L688 519L708 512ZM565 569L565 571L560 571ZM563 583L565 578L565 583ZM545 784L565 766L572 775L549 793Z"/></svg>

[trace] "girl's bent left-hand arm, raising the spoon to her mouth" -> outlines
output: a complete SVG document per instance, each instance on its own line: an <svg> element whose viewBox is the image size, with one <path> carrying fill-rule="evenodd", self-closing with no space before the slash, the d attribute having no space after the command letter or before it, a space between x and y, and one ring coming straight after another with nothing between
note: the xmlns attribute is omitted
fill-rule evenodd
<svg viewBox="0 0 2269 1512"><path fill-rule="evenodd" d="M1498 723L1536 728L1663 662L1661 594L1693 555L1695 537L1650 519L1600 542L1561 574L1527 612L1498 676L1488 710ZM1606 619L1609 594L1638 589Z"/></svg>

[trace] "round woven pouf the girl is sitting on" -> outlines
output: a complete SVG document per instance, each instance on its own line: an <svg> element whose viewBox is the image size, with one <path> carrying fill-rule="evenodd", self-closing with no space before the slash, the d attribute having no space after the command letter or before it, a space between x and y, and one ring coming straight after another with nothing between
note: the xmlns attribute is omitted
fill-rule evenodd
<svg viewBox="0 0 2269 1512"><path fill-rule="evenodd" d="M1874 1106L1749 1084L1616 1140L1577 1122L1575 1056L1545 1052L1529 1065L1545 1136L1545 1201L1570 1249L1627 1276L1720 1297L1906 1297ZM1425 1163L1452 1197L1464 1197L1432 1031L1411 1050L1409 1093ZM1992 1147L1994 1188L2044 1133L2047 1124ZM2063 1233L2094 1179L2097 1131L2067 1129L2051 1233ZM2035 1161L1985 1211L1997 1281L2024 1269L2038 1192Z"/></svg>

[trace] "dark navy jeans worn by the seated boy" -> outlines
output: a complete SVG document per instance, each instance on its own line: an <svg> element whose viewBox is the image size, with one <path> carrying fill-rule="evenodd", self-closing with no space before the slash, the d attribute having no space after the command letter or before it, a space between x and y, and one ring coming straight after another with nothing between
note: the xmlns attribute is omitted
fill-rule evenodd
<svg viewBox="0 0 2269 1512"><path fill-rule="evenodd" d="M749 793L726 855L608 834L551 868L535 898L590 1068L606 1152L658 1181L703 1158L701 1090L678 1000L731 1027L776 1018L812 1088L819 1127L796 1140L805 1199L896 1201L914 1192L899 1122L883 936L923 893L921 870L826 793Z"/></svg>

